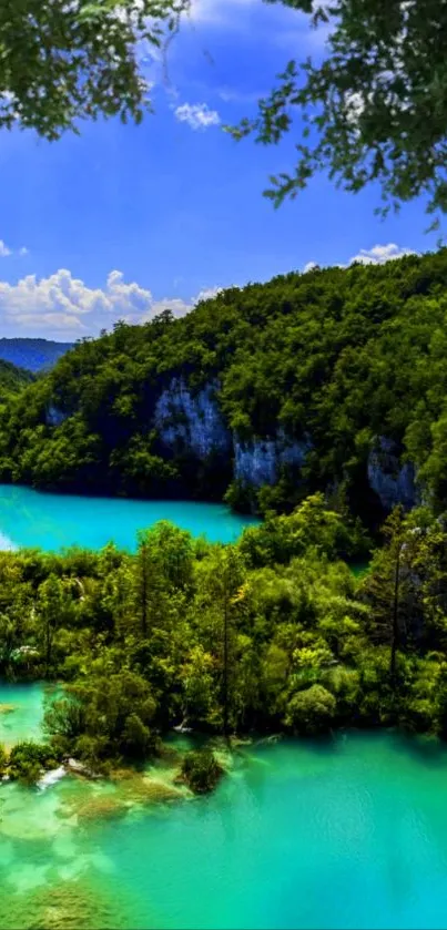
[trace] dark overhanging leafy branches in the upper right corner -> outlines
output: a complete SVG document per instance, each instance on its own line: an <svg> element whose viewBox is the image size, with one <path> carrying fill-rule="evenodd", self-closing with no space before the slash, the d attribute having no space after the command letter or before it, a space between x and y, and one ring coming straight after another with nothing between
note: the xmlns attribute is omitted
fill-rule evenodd
<svg viewBox="0 0 447 930"><path fill-rule="evenodd" d="M444 0L270 0L324 30L322 53L289 61L257 116L234 130L277 143L294 119L297 163L272 177L275 205L319 170L356 192L378 182L384 206L428 195L447 209L447 4Z"/></svg>

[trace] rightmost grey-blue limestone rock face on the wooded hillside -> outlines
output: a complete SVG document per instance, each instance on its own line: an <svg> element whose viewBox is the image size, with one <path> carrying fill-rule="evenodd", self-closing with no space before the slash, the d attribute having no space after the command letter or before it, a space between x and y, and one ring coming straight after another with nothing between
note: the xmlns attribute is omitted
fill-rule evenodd
<svg viewBox="0 0 447 930"><path fill-rule="evenodd" d="M368 456L367 473L369 487L385 510L393 510L399 503L410 510L419 502L415 467L412 462L400 463L392 439L378 437Z"/></svg>

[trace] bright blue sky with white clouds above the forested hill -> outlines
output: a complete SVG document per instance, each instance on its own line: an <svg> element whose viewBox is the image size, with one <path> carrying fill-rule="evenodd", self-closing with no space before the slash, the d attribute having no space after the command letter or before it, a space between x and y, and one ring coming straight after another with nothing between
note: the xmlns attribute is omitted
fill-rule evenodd
<svg viewBox="0 0 447 930"><path fill-rule="evenodd" d="M323 39L281 4L195 0L167 75L146 65L156 112L142 125L84 124L51 144L3 131L0 335L74 339L312 262L434 248L423 202L382 222L377 190L353 196L323 176L274 211L262 191L293 165L296 136L264 149L222 131Z"/></svg>

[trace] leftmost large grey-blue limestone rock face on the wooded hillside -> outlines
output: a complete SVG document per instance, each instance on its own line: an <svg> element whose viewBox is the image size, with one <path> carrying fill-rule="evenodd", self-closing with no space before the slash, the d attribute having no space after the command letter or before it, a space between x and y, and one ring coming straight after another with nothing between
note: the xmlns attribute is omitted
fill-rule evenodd
<svg viewBox="0 0 447 930"><path fill-rule="evenodd" d="M154 426L164 446L181 444L199 459L213 451L232 453L231 433L213 397L215 389L206 385L193 396L182 379L173 378L155 405Z"/></svg>

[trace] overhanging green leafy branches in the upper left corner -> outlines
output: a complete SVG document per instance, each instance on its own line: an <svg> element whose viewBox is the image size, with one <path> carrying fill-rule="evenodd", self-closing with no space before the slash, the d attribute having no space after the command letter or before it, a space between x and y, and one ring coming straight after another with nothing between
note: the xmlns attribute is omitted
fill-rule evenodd
<svg viewBox="0 0 447 930"><path fill-rule="evenodd" d="M54 140L82 119L140 122L143 52L176 27L183 0L3 0L0 126Z"/></svg>

